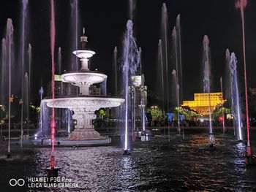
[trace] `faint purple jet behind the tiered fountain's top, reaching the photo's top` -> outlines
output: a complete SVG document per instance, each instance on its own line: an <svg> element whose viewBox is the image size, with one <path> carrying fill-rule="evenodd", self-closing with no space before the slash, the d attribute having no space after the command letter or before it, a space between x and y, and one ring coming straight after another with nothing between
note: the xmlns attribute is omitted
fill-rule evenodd
<svg viewBox="0 0 256 192"><path fill-rule="evenodd" d="M78 0L70 1L71 6L71 33L72 33L72 47L71 50L78 50L78 31L80 31L80 14L78 9ZM72 70L78 71L78 60L72 54Z"/></svg>

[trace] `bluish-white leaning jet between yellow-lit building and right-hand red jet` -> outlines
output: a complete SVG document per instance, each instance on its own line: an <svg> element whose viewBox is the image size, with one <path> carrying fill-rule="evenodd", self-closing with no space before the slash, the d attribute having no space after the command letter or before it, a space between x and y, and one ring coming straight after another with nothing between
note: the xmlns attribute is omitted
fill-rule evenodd
<svg viewBox="0 0 256 192"><path fill-rule="evenodd" d="M237 72L236 72L236 55L235 53L231 53L230 58L230 75L231 75L231 94L232 94L232 109L234 112L235 120L234 124L236 127L237 139L243 140L242 131L241 131L241 110L240 110L240 99L239 99L239 92L238 92L238 82L237 82Z"/></svg>

